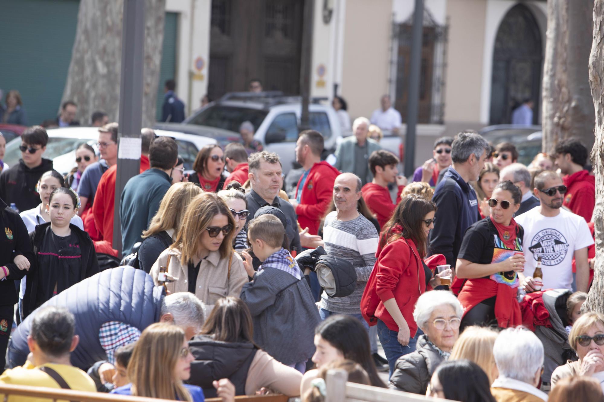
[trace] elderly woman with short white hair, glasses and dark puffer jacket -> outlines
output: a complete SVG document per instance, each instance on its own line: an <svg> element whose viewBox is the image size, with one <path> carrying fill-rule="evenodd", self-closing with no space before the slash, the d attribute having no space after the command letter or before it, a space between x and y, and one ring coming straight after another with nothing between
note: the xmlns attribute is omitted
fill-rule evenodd
<svg viewBox="0 0 604 402"><path fill-rule="evenodd" d="M426 394L434 370L451 355L459 336L463 307L447 290L426 292L417 299L413 319L422 329L415 352L396 362L388 386L413 394Z"/></svg>

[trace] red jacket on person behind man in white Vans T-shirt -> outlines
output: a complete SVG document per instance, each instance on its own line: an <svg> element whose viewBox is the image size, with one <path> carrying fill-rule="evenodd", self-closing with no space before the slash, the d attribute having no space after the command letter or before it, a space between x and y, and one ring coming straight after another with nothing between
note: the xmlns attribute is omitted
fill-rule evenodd
<svg viewBox="0 0 604 402"><path fill-rule="evenodd" d="M568 188L564 195L564 206L574 214L581 215L585 222L590 222L596 206L596 177L586 170L581 170L567 174L562 180Z"/></svg>

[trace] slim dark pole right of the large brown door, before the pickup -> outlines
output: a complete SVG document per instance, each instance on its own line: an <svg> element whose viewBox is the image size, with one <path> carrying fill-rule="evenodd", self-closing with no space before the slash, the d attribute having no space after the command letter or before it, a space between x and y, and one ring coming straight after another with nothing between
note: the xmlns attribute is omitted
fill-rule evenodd
<svg viewBox="0 0 604 402"><path fill-rule="evenodd" d="M310 129L308 105L310 100L310 69L312 64L312 24L314 10L315 0L305 0L300 63L300 94L302 95L302 113L300 116L301 131Z"/></svg>

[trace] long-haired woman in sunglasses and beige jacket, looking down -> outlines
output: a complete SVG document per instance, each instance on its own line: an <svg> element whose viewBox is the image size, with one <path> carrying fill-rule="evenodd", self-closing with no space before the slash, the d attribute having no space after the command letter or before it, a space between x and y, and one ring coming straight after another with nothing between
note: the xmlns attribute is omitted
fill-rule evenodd
<svg viewBox="0 0 604 402"><path fill-rule="evenodd" d="M226 203L214 193L202 193L188 205L174 243L159 254L151 268L156 285L160 267L175 280L170 293L191 292L208 309L223 296L239 296L248 274L233 251L235 220Z"/></svg>

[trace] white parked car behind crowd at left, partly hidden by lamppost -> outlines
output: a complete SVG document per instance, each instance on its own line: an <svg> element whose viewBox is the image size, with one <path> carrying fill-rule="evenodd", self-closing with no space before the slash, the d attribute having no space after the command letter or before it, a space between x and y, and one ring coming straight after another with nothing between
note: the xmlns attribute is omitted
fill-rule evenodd
<svg viewBox="0 0 604 402"><path fill-rule="evenodd" d="M89 144L98 154L97 127L63 127L60 129L50 129L48 132L48 144L43 158L52 159L54 169L59 173L65 174L76 167L76 149L81 144ZM178 144L178 154L184 159L185 170L193 168L193 162L199 150L207 144L216 144L216 140L199 135L184 134L181 132L172 132L165 130L155 130L158 136L169 136L175 139ZM6 145L4 162L9 166L14 166L21 159L19 150L21 139L15 138Z"/></svg>

